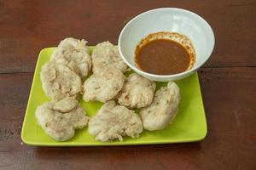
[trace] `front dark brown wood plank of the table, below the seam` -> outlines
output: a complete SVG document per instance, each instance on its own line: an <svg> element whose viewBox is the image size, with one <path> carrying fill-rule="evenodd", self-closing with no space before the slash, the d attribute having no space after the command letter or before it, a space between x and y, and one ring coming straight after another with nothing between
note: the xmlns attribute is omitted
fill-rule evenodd
<svg viewBox="0 0 256 170"><path fill-rule="evenodd" d="M20 127L32 73L0 75L0 169L255 169L256 68L199 71L207 138L190 144L32 147Z"/></svg>

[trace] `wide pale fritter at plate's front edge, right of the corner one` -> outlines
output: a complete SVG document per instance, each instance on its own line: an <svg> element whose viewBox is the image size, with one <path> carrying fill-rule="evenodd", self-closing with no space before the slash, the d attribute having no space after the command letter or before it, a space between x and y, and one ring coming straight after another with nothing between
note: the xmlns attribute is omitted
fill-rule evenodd
<svg viewBox="0 0 256 170"><path fill-rule="evenodd" d="M88 123L88 132L96 140L107 142L113 139L123 140L123 136L138 138L143 132L143 123L139 116L123 105L109 101L93 116Z"/></svg>

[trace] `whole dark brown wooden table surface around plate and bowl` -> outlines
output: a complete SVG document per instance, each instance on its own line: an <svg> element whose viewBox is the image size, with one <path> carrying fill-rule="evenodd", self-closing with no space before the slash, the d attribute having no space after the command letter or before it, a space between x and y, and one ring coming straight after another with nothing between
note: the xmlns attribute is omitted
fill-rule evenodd
<svg viewBox="0 0 256 170"><path fill-rule="evenodd" d="M199 70L207 138L189 144L32 147L20 129L40 49L65 37L117 43L148 9L186 8L215 33ZM256 2L0 1L0 169L256 169Z"/></svg>

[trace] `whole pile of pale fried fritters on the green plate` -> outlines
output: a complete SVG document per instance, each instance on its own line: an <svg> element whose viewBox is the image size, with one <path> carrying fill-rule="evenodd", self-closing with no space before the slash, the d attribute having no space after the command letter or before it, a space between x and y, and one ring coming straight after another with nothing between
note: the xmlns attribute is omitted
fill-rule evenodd
<svg viewBox="0 0 256 170"><path fill-rule="evenodd" d="M90 55L86 43L64 39L41 68L42 88L50 102L39 105L35 115L49 137L72 139L75 129L88 124L88 132L96 140L122 141L123 136L135 139L143 129L160 130L172 122L180 102L175 82L154 93L155 82L136 73L124 76L129 68L119 56L118 46L101 42ZM90 71L93 74L83 82ZM104 105L95 116L86 116L79 106L79 94L84 101ZM140 109L139 113L134 109Z"/></svg>

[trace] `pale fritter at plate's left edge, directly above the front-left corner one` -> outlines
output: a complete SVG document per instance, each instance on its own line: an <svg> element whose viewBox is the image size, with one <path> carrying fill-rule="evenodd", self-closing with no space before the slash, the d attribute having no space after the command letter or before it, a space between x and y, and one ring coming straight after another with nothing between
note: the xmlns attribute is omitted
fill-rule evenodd
<svg viewBox="0 0 256 170"><path fill-rule="evenodd" d="M57 101L76 97L81 91L81 78L67 66L49 61L40 72L42 88L49 99Z"/></svg>

